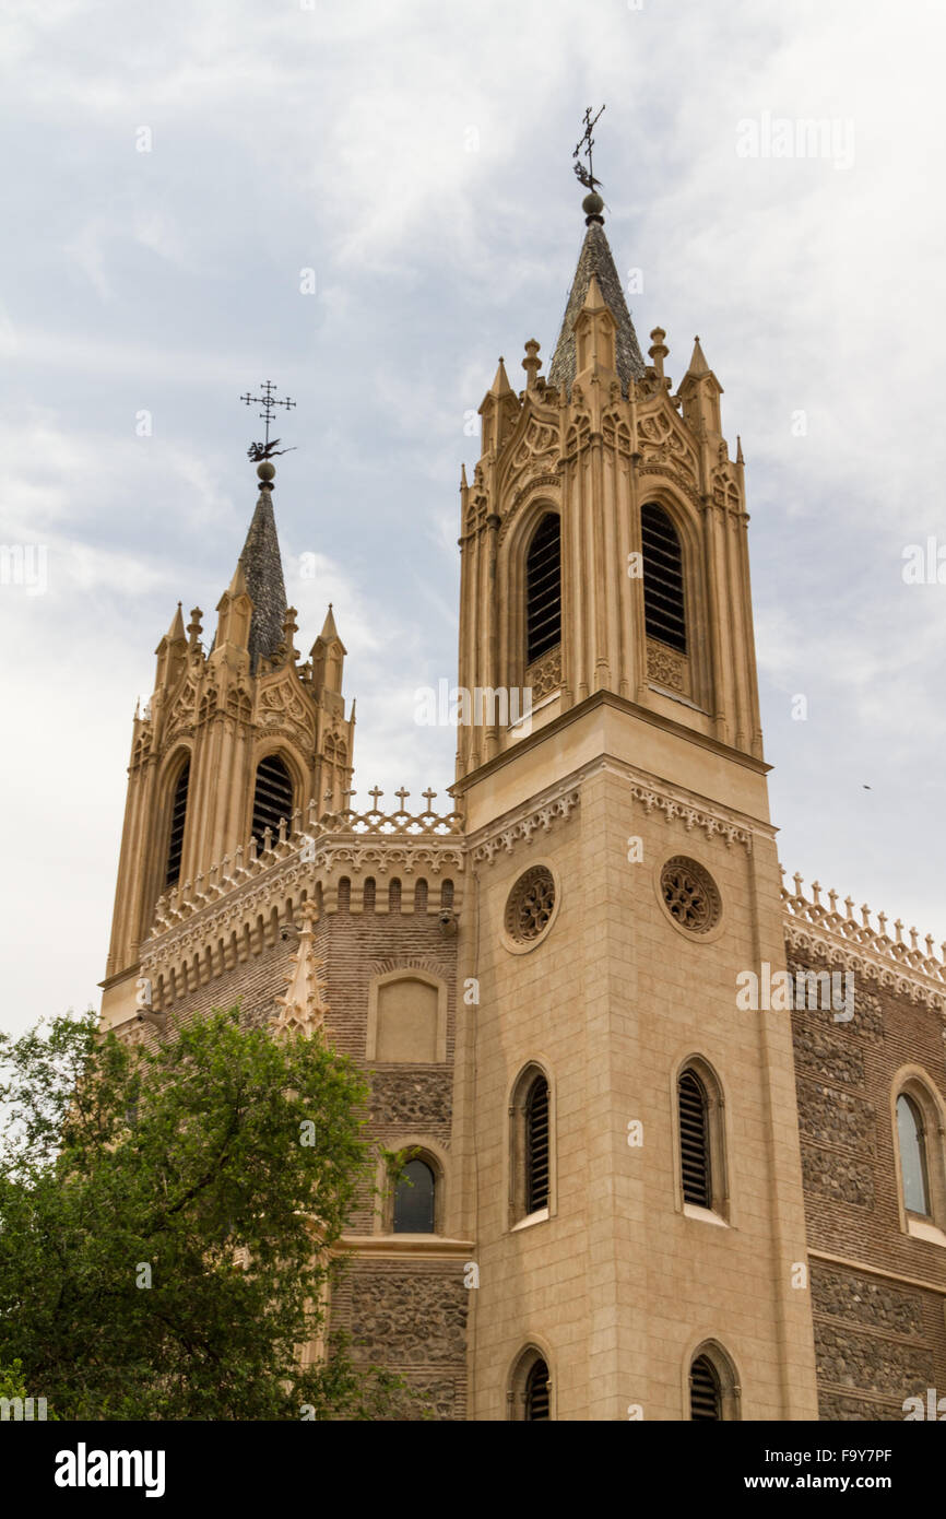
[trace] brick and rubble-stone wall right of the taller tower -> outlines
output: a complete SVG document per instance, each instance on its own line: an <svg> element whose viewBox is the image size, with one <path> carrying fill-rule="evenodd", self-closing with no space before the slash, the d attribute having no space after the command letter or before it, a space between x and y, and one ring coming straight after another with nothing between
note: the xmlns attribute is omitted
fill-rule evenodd
<svg viewBox="0 0 946 1519"><path fill-rule="evenodd" d="M788 969L846 968L790 949ZM791 1019L820 1417L902 1419L946 1391L946 1247L900 1226L891 1091L913 1065L946 1094L941 1019L856 975L850 1021Z"/></svg>

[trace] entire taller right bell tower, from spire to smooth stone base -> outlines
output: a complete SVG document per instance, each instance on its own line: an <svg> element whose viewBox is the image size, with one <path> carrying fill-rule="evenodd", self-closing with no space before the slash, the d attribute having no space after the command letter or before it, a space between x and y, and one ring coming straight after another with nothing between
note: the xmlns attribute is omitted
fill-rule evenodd
<svg viewBox="0 0 946 1519"><path fill-rule="evenodd" d="M785 963L743 453L698 339L644 362L595 185L460 488L472 1416L808 1419L790 1021L736 1006Z"/></svg>

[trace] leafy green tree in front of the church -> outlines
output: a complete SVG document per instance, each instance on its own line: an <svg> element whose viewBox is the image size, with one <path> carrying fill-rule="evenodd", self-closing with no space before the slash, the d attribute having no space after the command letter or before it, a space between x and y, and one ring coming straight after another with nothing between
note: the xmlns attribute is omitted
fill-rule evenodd
<svg viewBox="0 0 946 1519"><path fill-rule="evenodd" d="M58 1018L0 1034L0 1364L61 1419L404 1411L345 1344L299 1360L369 1185L349 1060L232 1009L155 1050Z"/></svg>

